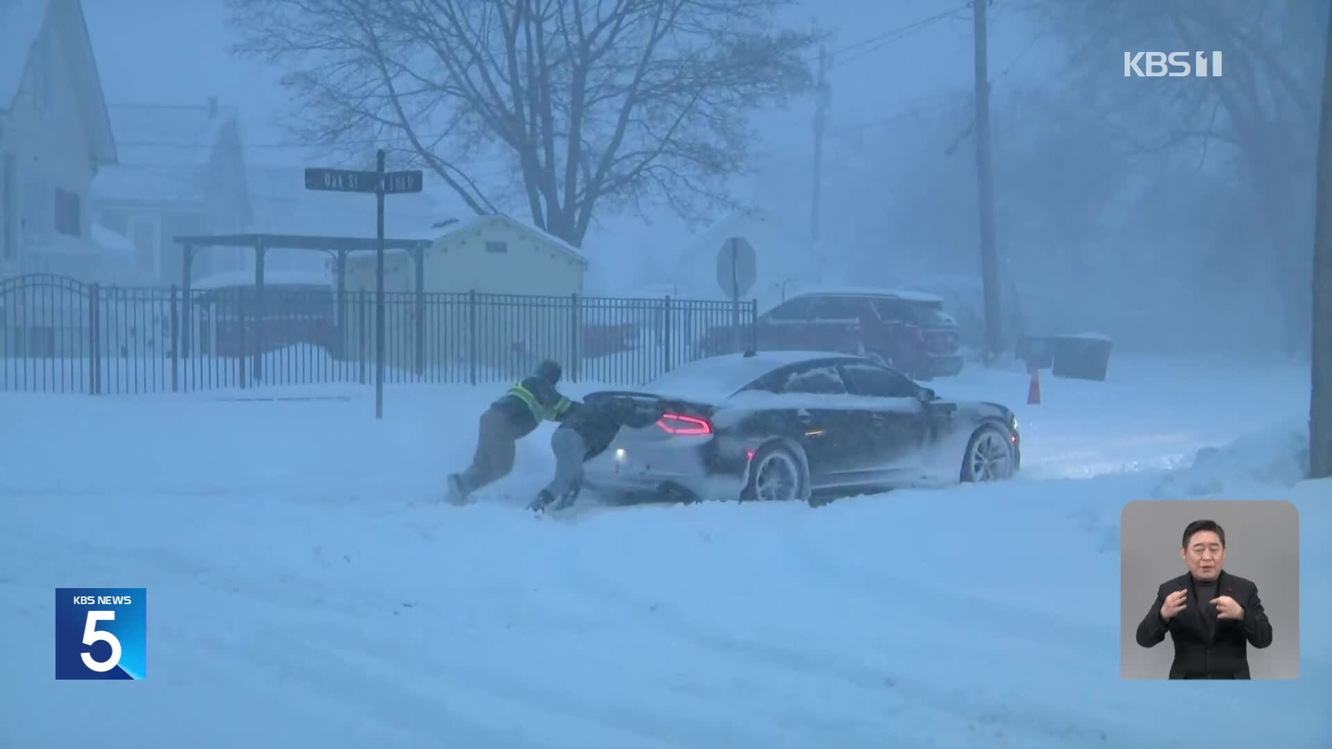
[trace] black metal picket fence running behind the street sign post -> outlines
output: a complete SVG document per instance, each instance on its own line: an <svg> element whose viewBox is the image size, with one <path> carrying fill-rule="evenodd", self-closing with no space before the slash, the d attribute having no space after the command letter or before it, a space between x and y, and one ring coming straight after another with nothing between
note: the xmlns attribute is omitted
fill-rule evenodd
<svg viewBox="0 0 1332 749"><path fill-rule="evenodd" d="M476 292L386 292L384 308L388 384L511 380L549 357L573 381L637 385L753 345L757 313L754 301ZM0 279L0 390L372 384L374 335L373 292Z"/></svg>

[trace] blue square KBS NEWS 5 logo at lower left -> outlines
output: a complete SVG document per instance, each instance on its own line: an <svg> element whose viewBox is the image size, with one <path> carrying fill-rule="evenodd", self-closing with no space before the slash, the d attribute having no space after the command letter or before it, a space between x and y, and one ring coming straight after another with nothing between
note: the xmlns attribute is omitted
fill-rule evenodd
<svg viewBox="0 0 1332 749"><path fill-rule="evenodd" d="M145 678L147 625L147 588L56 588L56 678Z"/></svg>

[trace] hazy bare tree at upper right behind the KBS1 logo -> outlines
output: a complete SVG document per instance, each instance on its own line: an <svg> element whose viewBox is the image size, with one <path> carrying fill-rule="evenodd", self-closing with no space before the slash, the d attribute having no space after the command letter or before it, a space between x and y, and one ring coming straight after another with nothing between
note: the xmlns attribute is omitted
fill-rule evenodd
<svg viewBox="0 0 1332 749"><path fill-rule="evenodd" d="M1090 105L1115 124L1131 159L1192 163L1248 188L1267 240L1252 277L1285 300L1288 347L1307 340L1307 195L1317 131L1320 32L1327 4L1255 0L1028 0L1075 51L1068 69ZM1123 77L1124 51L1223 51L1223 77Z"/></svg>

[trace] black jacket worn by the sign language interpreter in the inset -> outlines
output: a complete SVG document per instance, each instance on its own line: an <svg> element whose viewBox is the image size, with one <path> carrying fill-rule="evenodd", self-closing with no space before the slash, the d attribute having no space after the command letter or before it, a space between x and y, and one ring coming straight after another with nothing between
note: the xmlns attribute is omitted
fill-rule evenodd
<svg viewBox="0 0 1332 749"><path fill-rule="evenodd" d="M1163 620L1160 609L1166 597L1185 589L1188 605L1175 618ZM1257 597L1257 585L1221 570L1216 578L1216 596L1235 598L1236 604L1244 606L1244 618L1216 620L1215 629L1209 629L1201 608L1209 604L1199 600L1193 578L1188 573L1163 582L1156 589L1156 602L1138 625L1138 644L1151 648L1169 632L1171 641L1175 642L1171 678L1249 678L1247 646L1267 648L1272 644L1272 622L1267 620L1263 601Z"/></svg>

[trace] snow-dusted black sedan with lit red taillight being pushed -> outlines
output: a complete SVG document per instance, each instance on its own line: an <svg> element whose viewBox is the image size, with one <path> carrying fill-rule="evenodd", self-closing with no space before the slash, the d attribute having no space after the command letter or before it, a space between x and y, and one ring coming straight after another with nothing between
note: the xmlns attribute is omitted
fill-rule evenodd
<svg viewBox="0 0 1332 749"><path fill-rule="evenodd" d="M940 400L859 356L749 352L685 364L641 390L601 390L665 409L587 461L610 501L786 500L958 481L1020 465L1018 418L992 402Z"/></svg>

